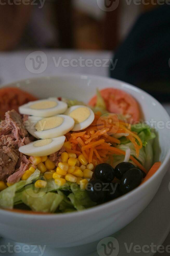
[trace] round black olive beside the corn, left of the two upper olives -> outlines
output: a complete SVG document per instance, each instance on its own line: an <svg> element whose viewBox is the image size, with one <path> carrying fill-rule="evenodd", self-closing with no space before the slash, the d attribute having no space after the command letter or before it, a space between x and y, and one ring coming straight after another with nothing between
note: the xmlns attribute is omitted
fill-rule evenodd
<svg viewBox="0 0 170 256"><path fill-rule="evenodd" d="M97 165L94 174L97 179L108 183L112 182L115 177L113 167L106 163Z"/></svg>

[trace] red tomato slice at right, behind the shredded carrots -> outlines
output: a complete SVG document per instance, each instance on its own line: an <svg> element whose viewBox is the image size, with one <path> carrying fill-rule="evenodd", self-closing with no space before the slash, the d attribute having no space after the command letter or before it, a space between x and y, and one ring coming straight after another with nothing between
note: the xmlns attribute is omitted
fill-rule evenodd
<svg viewBox="0 0 170 256"><path fill-rule="evenodd" d="M138 102L130 94L114 88L103 89L100 93L110 113L122 114L124 116L130 115L130 117L127 118L128 121L139 121L140 107ZM91 98L89 105L94 107L96 100L96 96Z"/></svg>

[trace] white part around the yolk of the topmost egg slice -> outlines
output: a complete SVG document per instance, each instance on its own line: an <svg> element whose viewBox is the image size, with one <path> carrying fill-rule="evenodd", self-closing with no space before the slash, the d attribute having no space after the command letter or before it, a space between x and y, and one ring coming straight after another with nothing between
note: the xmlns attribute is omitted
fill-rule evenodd
<svg viewBox="0 0 170 256"><path fill-rule="evenodd" d="M31 105L42 102L42 101L54 101L57 103L57 106L46 109L32 109ZM24 104L19 107L19 113L25 115L33 115L36 117L51 117L57 114L63 114L67 110L67 104L63 101L58 101L56 98L30 101L27 104Z"/></svg>

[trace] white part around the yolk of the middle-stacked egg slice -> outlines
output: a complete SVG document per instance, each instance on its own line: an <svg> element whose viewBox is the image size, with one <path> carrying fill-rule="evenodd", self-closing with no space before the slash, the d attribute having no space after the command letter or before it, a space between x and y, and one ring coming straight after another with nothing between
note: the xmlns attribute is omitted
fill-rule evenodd
<svg viewBox="0 0 170 256"><path fill-rule="evenodd" d="M71 131L74 127L74 119L67 116L67 115L56 115L56 117L62 117L63 123L56 127L45 131L37 131L35 129L35 125L38 121L42 120L42 117L28 117L27 125L25 125L25 129L38 139L50 139L50 138L56 138L59 136L62 136L66 134L67 132Z"/></svg>

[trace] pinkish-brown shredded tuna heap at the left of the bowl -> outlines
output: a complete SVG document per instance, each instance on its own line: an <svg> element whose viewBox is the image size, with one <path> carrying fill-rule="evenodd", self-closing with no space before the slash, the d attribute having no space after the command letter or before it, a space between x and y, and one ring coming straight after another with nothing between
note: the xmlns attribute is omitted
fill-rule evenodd
<svg viewBox="0 0 170 256"><path fill-rule="evenodd" d="M32 141L34 137L24 129L21 116L15 110L6 112L5 120L0 123L0 180L6 181L15 174L12 180L19 181L30 162L18 148Z"/></svg>

